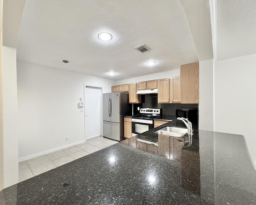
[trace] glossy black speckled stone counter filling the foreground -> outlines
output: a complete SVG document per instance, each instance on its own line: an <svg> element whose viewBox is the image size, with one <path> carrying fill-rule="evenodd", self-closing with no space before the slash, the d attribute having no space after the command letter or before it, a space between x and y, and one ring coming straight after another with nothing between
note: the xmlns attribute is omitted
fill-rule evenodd
<svg viewBox="0 0 256 205"><path fill-rule="evenodd" d="M117 143L2 190L0 204L255 205L256 171L242 135L199 130L180 162Z"/></svg>

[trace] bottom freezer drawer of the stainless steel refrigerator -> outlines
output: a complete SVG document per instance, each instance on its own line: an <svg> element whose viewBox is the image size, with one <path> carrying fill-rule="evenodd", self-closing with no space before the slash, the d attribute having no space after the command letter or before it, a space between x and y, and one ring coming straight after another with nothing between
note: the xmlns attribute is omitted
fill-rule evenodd
<svg viewBox="0 0 256 205"><path fill-rule="evenodd" d="M120 123L103 121L103 136L120 141Z"/></svg>

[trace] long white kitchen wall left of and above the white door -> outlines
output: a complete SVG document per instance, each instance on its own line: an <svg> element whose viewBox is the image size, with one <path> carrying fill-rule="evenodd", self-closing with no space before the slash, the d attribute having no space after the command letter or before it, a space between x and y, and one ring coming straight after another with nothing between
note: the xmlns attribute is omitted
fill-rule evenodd
<svg viewBox="0 0 256 205"><path fill-rule="evenodd" d="M84 140L84 112L78 109L84 83L104 86L105 93L114 81L18 61L17 83L19 158L26 159Z"/></svg>

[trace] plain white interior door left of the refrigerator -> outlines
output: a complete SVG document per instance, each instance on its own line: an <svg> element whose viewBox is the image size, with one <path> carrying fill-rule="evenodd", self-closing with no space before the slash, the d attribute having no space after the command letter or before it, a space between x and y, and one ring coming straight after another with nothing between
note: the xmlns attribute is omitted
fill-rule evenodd
<svg viewBox="0 0 256 205"><path fill-rule="evenodd" d="M85 87L85 139L101 135L101 88Z"/></svg>

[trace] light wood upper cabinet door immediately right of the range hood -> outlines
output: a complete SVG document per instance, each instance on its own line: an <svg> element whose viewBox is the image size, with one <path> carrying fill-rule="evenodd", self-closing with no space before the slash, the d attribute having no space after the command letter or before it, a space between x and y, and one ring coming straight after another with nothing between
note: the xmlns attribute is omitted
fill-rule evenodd
<svg viewBox="0 0 256 205"><path fill-rule="evenodd" d="M158 103L170 102L170 80L169 78L158 80Z"/></svg>

